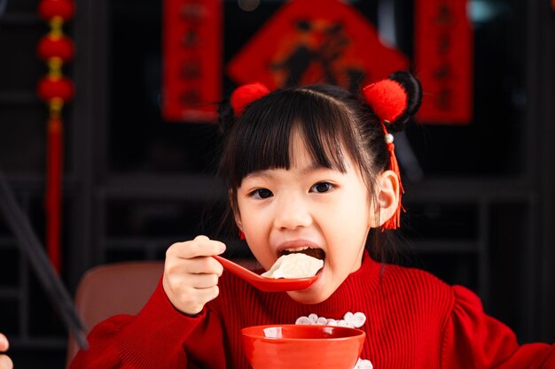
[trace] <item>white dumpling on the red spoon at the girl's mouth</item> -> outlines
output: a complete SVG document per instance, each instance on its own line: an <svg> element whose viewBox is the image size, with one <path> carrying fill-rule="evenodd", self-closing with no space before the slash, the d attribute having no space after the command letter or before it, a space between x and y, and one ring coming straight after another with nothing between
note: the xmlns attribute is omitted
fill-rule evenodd
<svg viewBox="0 0 555 369"><path fill-rule="evenodd" d="M324 266L324 260L309 257L302 253L284 255L277 259L268 272L262 273L267 278L308 278Z"/></svg>

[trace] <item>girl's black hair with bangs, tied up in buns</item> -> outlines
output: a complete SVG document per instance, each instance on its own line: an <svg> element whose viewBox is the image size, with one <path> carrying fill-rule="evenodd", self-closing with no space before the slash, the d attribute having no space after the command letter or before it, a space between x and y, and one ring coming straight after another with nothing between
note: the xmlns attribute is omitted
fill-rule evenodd
<svg viewBox="0 0 555 369"><path fill-rule="evenodd" d="M395 73L391 78L401 79L403 87L409 85L405 88L408 108L389 127L395 132L403 129L418 110L421 92L418 81L409 73ZM246 175L291 167L293 132L301 134L316 165L344 173L344 154L348 154L358 166L370 196L376 192L377 174L389 165L379 118L360 95L332 85L278 89L248 104L237 118L226 102L220 106L220 127L224 141L218 175L230 194L231 209L225 221L233 224L233 213L238 211L237 189ZM371 238L377 238L375 235ZM383 250L378 249L371 247L372 256L382 258Z"/></svg>

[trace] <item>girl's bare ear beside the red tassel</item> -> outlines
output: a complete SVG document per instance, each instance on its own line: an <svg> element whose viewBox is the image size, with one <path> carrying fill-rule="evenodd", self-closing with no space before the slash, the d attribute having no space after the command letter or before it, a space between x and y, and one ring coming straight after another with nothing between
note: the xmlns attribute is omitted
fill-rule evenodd
<svg viewBox="0 0 555 369"><path fill-rule="evenodd" d="M371 227L380 227L394 216L399 204L399 177L394 171L385 171L378 177L378 204L372 206Z"/></svg>

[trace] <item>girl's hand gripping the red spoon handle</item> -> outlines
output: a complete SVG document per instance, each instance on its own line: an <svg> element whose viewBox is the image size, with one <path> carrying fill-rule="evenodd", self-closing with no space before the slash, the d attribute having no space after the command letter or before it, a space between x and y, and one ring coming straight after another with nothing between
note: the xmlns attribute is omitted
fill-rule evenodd
<svg viewBox="0 0 555 369"><path fill-rule="evenodd" d="M212 256L224 250L223 242L210 240L206 235L169 247L162 286L177 310L198 314L208 301L218 296L218 279L223 266Z"/></svg>

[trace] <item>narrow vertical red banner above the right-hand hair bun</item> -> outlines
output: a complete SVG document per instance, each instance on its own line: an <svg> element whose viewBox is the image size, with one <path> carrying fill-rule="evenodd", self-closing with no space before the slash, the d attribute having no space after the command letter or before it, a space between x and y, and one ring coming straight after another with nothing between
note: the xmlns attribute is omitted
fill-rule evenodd
<svg viewBox="0 0 555 369"><path fill-rule="evenodd" d="M414 71L424 97L418 121L468 124L473 118L473 31L467 0L416 0Z"/></svg>

